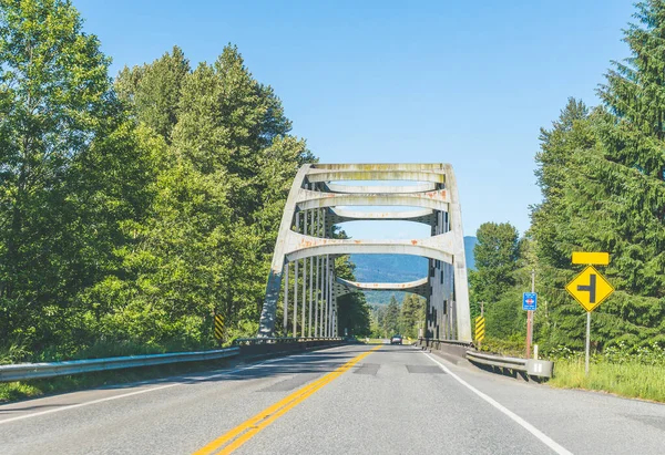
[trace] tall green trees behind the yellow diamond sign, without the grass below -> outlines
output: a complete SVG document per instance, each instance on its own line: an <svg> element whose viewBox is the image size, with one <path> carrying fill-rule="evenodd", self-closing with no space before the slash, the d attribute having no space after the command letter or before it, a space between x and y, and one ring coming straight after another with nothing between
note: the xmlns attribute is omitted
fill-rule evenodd
<svg viewBox="0 0 665 455"><path fill-rule="evenodd" d="M632 56L613 62L598 91L605 105L570 99L541 130L543 200L532 207L532 258L521 258L536 270L535 341L546 351L583 348L584 310L564 291L581 270L573 251L608 251L601 271L617 289L593 312L593 351L659 341L665 330L665 2L636 7L624 39Z"/></svg>

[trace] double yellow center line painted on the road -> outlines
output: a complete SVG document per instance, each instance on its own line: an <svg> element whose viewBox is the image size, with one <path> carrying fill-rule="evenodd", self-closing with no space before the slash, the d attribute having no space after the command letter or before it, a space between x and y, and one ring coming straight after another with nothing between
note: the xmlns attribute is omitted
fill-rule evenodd
<svg viewBox="0 0 665 455"><path fill-rule="evenodd" d="M278 401L269 407L266 407L254 417L243 422L235 428L224 433L222 436L216 438L215 441L208 443L205 447L200 448L194 452L193 455L208 455L215 451L218 454L231 454L233 451L245 444L252 437L254 437L257 433L264 430L266 426L270 425L275 422L279 416L286 414L290 409L297 406L299 403L304 402L313 395L316 391L335 380L336 378L342 375L346 371L348 371L356 363L360 362L367 355L371 354L374 351L381 349L381 347L376 347L361 353L360 355L351 359L344 365L339 366L335 371L319 378L310 384L307 384L284 400Z"/></svg>

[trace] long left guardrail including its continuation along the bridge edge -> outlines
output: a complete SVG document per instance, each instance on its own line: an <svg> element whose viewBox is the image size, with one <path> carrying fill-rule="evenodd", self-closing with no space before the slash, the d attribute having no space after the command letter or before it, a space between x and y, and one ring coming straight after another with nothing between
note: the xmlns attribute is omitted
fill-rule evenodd
<svg viewBox="0 0 665 455"><path fill-rule="evenodd" d="M232 348L211 351L127 355L48 363L17 363L0 365L0 382L27 381L69 374L153 366L166 363L208 361L241 355L275 354L315 347L339 344L342 341L342 338L241 338L234 341Z"/></svg>

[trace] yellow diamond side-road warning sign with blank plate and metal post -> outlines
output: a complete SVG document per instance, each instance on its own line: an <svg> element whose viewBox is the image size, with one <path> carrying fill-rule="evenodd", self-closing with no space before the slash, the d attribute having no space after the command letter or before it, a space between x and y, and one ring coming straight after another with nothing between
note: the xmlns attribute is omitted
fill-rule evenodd
<svg viewBox="0 0 665 455"><path fill-rule="evenodd" d="M586 263L565 290L586 310L586 343L584 353L584 373L589 375L589 356L591 347L591 312L595 310L612 292L614 288L593 266L610 263L607 252L573 252L573 263Z"/></svg>

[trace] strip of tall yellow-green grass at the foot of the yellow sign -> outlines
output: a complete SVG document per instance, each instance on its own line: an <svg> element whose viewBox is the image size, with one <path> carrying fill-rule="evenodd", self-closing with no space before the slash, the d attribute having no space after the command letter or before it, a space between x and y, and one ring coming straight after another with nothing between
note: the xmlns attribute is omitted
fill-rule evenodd
<svg viewBox="0 0 665 455"><path fill-rule="evenodd" d="M549 384L665 402L665 365L598 362L590 365L586 376L584 359L557 360L554 362L554 378Z"/></svg>

